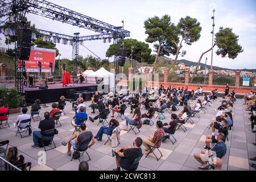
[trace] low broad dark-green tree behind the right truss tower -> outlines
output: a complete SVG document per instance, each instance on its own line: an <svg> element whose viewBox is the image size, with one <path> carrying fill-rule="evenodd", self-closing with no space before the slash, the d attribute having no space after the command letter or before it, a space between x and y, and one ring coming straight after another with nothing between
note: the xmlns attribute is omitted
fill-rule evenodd
<svg viewBox="0 0 256 182"><path fill-rule="evenodd" d="M133 46L133 59L142 63L150 63L151 61L151 49L149 45L144 42L139 42L136 39L123 40L124 49L126 50L126 57L131 59L131 47ZM122 46L122 40L118 42L118 46ZM106 57L112 57L115 53L115 46L112 44L106 51Z"/></svg>

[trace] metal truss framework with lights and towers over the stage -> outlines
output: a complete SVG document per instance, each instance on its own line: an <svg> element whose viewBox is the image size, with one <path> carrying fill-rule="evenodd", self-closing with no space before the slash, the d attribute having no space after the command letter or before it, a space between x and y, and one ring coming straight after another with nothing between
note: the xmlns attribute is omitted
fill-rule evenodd
<svg viewBox="0 0 256 182"><path fill-rule="evenodd" d="M123 30L122 27L116 27L111 24L94 19L90 16L77 13L76 11L69 10L65 7L61 7L54 3L44 0L0 0L0 18L7 17L7 19L13 19L15 21L15 32L18 31L19 15L25 16L26 14L36 14L44 16L46 18L57 20L59 22L71 24L72 26L85 28L97 32L96 35L79 36L79 33L75 33L74 36L59 34L56 32L40 30L40 35L52 36L53 38L67 39L73 41L73 64L74 72L76 74L76 61L79 57L79 42L86 40L100 40L100 39L114 39L114 44L118 43L119 39L124 39L130 36L130 32ZM18 35L18 34L15 34ZM18 35L19 36L19 35ZM18 52L18 43L15 42L16 52ZM118 74L118 46L115 46L115 77ZM18 55L16 56L16 84L19 93L23 93L23 78L22 69L18 68ZM20 75L20 76L19 76ZM117 80L115 79L117 84Z"/></svg>

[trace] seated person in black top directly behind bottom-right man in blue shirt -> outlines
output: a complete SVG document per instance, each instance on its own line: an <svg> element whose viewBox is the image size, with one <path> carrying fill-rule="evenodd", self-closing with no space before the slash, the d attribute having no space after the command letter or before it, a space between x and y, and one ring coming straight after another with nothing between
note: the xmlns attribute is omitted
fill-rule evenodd
<svg viewBox="0 0 256 182"><path fill-rule="evenodd" d="M224 137L228 136L228 128L226 119L222 118L221 123L218 122L212 122L210 123L210 127L212 127L212 135L207 135L205 139L206 146L203 147L204 150L210 150L210 143L217 143L217 135L215 135L215 129L218 130L218 133L223 133ZM225 142L225 139L224 139Z"/></svg>

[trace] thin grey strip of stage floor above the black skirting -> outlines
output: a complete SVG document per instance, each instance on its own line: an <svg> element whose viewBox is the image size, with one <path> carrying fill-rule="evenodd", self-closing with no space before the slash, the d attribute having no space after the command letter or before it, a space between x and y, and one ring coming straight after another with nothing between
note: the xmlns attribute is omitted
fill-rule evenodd
<svg viewBox="0 0 256 182"><path fill-rule="evenodd" d="M49 84L48 85L48 90L49 89L67 89L67 88L77 88L77 87L84 87L84 86L97 86L97 84L71 84L68 86L62 86L62 84ZM30 88L28 86L24 86L24 91L35 91L35 90L41 90L39 89L39 87L35 87L35 88Z"/></svg>

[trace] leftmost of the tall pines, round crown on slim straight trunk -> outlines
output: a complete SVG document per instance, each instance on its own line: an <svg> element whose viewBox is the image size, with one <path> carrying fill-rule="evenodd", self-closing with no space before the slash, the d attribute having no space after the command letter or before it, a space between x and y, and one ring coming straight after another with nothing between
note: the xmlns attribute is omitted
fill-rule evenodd
<svg viewBox="0 0 256 182"><path fill-rule="evenodd" d="M144 28L146 29L145 33L148 35L146 42L155 43L154 47L157 53L154 65L159 56L176 54L177 47L175 43L179 42L179 30L177 30L174 23L171 23L171 17L169 15L164 15L162 18L158 16L148 18L144 22Z"/></svg>

